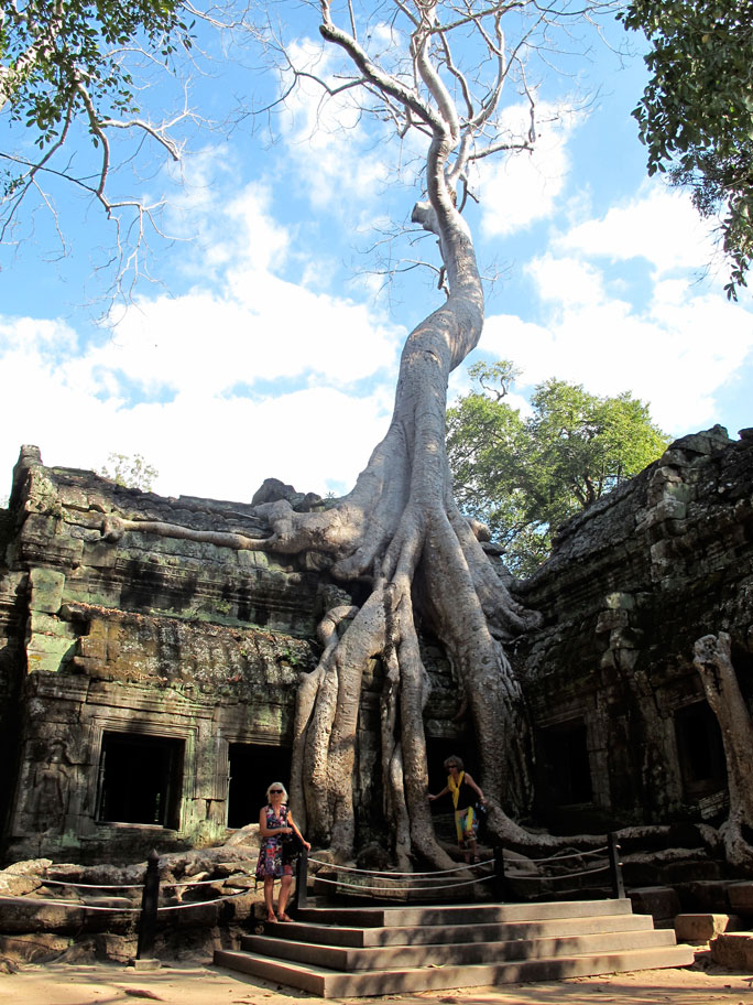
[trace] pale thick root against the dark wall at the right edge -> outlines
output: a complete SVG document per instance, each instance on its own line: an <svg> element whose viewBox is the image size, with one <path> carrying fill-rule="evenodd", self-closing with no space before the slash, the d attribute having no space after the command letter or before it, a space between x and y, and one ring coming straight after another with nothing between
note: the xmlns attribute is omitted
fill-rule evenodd
<svg viewBox="0 0 753 1005"><path fill-rule="evenodd" d="M729 635L705 635L694 649L706 698L724 744L730 813L719 829L727 861L753 874L753 723L732 666Z"/></svg>

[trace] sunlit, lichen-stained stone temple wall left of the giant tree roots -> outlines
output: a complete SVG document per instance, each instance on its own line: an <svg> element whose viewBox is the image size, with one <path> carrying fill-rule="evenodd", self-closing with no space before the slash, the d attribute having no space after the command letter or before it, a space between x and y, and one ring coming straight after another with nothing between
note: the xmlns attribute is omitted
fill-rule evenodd
<svg viewBox="0 0 753 1005"><path fill-rule="evenodd" d="M110 543L102 523L112 516L252 537L262 528L250 506L162 499L48 469L35 449L22 452L10 512L0 582L0 687L18 745L9 856L137 855L157 839L163 849L216 840L229 745L266 746L270 765L290 746L298 677L316 663L317 574L263 552L156 534ZM143 771L150 755L155 770L175 775L146 797L163 802L153 808L159 825L107 820L108 744L116 776L131 757ZM271 780L260 772L249 819ZM150 813L142 806L131 815Z"/></svg>

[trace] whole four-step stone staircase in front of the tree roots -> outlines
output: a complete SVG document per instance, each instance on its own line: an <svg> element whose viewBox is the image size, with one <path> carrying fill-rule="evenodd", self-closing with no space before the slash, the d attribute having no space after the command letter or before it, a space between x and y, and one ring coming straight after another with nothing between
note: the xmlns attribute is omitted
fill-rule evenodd
<svg viewBox="0 0 753 1005"><path fill-rule="evenodd" d="M215 963L321 997L557 981L694 962L628 899L306 907Z"/></svg>

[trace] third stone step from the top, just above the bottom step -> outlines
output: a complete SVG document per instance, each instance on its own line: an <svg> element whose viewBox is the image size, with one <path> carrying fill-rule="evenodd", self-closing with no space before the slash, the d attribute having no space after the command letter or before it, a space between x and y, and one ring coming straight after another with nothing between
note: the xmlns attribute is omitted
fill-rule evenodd
<svg viewBox="0 0 753 1005"><path fill-rule="evenodd" d="M445 945L385 945L346 949L294 942L270 936L247 936L242 948L255 955L274 957L295 963L326 966L329 970L386 971L406 966L467 966L513 960L544 960L555 955L586 955L624 952L632 949L673 947L674 931L599 932L590 936L560 936L548 939L515 939L506 942L460 942Z"/></svg>

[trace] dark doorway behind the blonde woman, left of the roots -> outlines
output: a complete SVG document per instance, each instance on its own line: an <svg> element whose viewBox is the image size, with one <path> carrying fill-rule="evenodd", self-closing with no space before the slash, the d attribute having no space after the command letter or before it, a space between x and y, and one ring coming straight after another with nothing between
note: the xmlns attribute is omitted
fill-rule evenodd
<svg viewBox="0 0 753 1005"><path fill-rule="evenodd" d="M259 820L273 781L282 781L290 789L291 749L271 744L230 744L228 770L228 826L245 826Z"/></svg>

